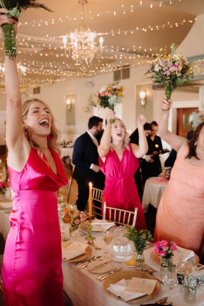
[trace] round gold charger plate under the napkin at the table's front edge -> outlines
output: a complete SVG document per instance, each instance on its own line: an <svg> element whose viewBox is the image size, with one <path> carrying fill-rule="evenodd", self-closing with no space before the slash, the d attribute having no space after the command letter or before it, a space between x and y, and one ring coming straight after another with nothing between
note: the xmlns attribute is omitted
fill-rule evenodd
<svg viewBox="0 0 204 306"><path fill-rule="evenodd" d="M110 284L116 284L122 278L131 279L132 277L155 279L157 281L157 279L153 275L142 272L142 271L118 271L118 272L111 274L109 277L105 279L104 284L103 284L105 292L112 298L119 300L119 301L123 301L121 297L116 296L115 294L111 293L110 291L107 290L107 288L110 287ZM134 298L132 300L127 301L127 303L141 303L141 302L150 301L152 298L155 298L160 293L160 290L161 290L161 286L159 282L157 282L154 291L150 295L146 294L141 297Z"/></svg>

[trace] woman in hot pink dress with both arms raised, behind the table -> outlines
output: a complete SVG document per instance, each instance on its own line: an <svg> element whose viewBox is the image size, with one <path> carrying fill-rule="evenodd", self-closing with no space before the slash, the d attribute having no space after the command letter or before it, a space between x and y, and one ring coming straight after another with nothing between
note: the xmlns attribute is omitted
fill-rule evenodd
<svg viewBox="0 0 204 306"><path fill-rule="evenodd" d="M139 160L147 152L147 140L143 125L145 118L139 115L137 126L139 131L139 146L131 144L124 124L120 119L110 123L115 118L112 110L107 113L106 130L98 147L101 171L106 175L103 201L110 207L135 211L138 208L136 228L145 229L146 223L142 210L134 174L139 167ZM103 212L103 206L102 206Z"/></svg>

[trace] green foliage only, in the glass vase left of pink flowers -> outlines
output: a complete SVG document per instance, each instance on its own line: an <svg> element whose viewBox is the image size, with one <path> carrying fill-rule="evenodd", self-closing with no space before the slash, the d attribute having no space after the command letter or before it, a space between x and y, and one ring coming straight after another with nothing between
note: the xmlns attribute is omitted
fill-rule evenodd
<svg viewBox="0 0 204 306"><path fill-rule="evenodd" d="M152 236L148 230L137 231L136 228L126 226L127 233L124 235L127 239L133 241L137 252L141 252L146 247L147 241L152 241Z"/></svg>

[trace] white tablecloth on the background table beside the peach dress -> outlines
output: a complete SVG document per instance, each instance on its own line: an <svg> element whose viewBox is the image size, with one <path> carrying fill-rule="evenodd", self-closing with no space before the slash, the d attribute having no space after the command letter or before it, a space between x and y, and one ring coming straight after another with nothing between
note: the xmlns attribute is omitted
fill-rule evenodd
<svg viewBox="0 0 204 306"><path fill-rule="evenodd" d="M144 192L142 198L142 208L144 213L148 210L148 205L153 205L156 209L159 206L161 197L166 189L168 182L166 183L156 183L159 177L149 177L144 185Z"/></svg>

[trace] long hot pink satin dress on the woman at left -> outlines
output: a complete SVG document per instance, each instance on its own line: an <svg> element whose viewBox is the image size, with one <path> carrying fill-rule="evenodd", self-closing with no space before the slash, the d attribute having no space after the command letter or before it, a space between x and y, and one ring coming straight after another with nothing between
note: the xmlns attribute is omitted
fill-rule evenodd
<svg viewBox="0 0 204 306"><path fill-rule="evenodd" d="M60 158L50 151L58 175L33 148L20 173L8 167L16 194L2 271L6 306L64 305L56 191L67 178Z"/></svg>

